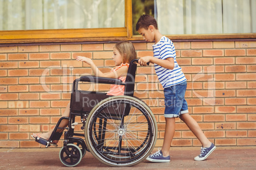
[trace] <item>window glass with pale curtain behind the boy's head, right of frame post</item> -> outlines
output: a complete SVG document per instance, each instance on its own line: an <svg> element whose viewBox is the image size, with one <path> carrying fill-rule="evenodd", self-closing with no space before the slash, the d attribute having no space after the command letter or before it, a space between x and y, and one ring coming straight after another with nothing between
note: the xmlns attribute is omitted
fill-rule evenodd
<svg viewBox="0 0 256 170"><path fill-rule="evenodd" d="M133 0L132 8L133 30L140 15L153 11L164 35L256 32L256 0Z"/></svg>

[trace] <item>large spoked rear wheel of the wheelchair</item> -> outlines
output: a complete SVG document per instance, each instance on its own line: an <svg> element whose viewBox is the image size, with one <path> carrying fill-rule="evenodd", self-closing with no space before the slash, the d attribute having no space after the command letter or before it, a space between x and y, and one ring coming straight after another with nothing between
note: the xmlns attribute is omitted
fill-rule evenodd
<svg viewBox="0 0 256 170"><path fill-rule="evenodd" d="M85 141L108 166L133 166L152 152L157 123L150 108L131 96L112 96L94 107L85 124Z"/></svg>

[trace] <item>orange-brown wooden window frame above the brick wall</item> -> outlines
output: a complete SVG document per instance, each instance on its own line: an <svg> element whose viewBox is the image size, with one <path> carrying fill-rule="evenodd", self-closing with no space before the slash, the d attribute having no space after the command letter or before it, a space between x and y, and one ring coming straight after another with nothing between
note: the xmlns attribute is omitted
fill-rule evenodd
<svg viewBox="0 0 256 170"><path fill-rule="evenodd" d="M255 39L256 34L189 34L166 35L173 40L204 39ZM26 44L45 42L85 41L141 41L132 36L132 0L125 0L125 27L103 29L52 29L52 30L4 30L0 31L0 44Z"/></svg>

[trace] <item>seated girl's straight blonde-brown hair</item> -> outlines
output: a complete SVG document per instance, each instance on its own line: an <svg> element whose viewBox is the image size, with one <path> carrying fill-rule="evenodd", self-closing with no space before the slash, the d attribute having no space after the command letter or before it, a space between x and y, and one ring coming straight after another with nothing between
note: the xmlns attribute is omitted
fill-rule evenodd
<svg viewBox="0 0 256 170"><path fill-rule="evenodd" d="M130 63L133 59L137 58L135 48L130 41L118 42L114 48L123 56L123 63Z"/></svg>

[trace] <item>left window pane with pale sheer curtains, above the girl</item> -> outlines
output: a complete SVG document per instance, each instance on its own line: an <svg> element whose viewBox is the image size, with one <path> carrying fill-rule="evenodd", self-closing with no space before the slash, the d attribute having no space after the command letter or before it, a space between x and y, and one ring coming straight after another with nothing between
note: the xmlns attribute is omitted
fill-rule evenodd
<svg viewBox="0 0 256 170"><path fill-rule="evenodd" d="M0 0L0 30L125 27L125 0Z"/></svg>

